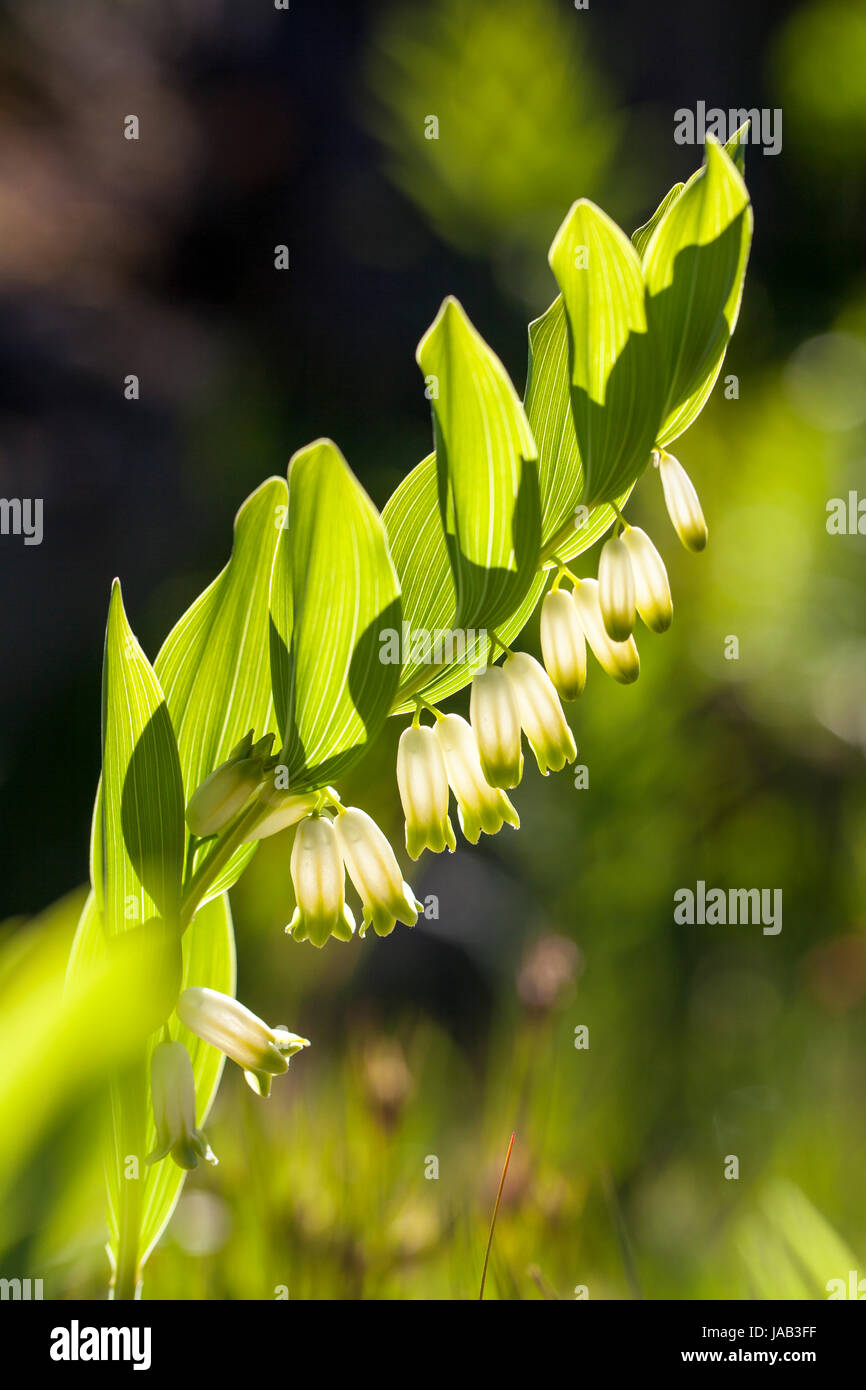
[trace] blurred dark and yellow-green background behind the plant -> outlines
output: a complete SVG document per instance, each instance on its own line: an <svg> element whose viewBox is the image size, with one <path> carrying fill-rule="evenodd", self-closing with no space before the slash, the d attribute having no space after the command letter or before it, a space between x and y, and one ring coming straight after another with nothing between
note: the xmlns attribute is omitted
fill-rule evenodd
<svg viewBox="0 0 866 1390"><path fill-rule="evenodd" d="M417 866L438 916L413 931L292 942L291 833L263 844L232 892L239 995L313 1047L267 1102L227 1070L220 1166L145 1297L477 1297L513 1130L487 1297L866 1277L865 541L826 525L866 456L863 6L92 0L72 22L21 0L0 51L0 491L46 516L42 546L0 546L0 1275L104 1293L101 1073L57 981L113 574L153 656L246 492L314 435L382 505L430 446L413 350L442 296L523 388L567 206L645 221L701 161L673 128L705 100L781 108L783 149L746 153L738 396L676 446L708 550L680 549L652 473L628 507L674 626L635 687L591 670L585 790L528 769L518 833ZM395 844L402 723L343 788ZM677 926L698 880L781 890L781 933Z"/></svg>

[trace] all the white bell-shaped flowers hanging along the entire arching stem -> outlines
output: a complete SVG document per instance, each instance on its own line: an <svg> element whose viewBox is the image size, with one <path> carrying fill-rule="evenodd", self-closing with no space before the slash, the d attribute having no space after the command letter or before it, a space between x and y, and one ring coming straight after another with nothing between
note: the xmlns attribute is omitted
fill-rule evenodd
<svg viewBox="0 0 866 1390"><path fill-rule="evenodd" d="M671 455L653 452L670 520L683 545L702 550L706 521L698 493ZM562 587L571 582L570 589ZM503 646L502 664L491 663L470 689L468 721L417 701L413 723L400 737L396 778L406 819L410 859L430 849L456 848L450 796L460 830L470 844L495 835L520 817L507 791L523 778L525 738L542 776L574 762L577 748L562 701L577 699L587 682L587 646L602 670L621 684L641 671L634 639L637 617L652 632L673 620L664 562L639 527L617 513L614 534L602 546L598 578L578 578L564 564L541 609L544 664L528 652ZM423 724L424 710L434 714ZM335 937L350 941L356 919L346 903L346 874L361 901L359 935L373 926L388 935L398 922L414 926L423 905L405 881L398 858L375 821L357 806L343 806L336 791L300 795L277 788L272 734L254 741L250 730L229 756L196 790L186 820L199 838L218 835L247 808L254 815L243 841L257 841L297 826L291 856L296 908L286 927L296 941L324 947ZM285 1029L270 1029L242 1004L214 990L188 988L177 1005L179 1020L197 1037L220 1048L243 1068L249 1084L267 1095L289 1056L309 1042ZM189 1054L164 1040L152 1059L152 1093L157 1145L149 1162L167 1154L182 1168L200 1158L215 1162L196 1127L196 1095Z"/></svg>

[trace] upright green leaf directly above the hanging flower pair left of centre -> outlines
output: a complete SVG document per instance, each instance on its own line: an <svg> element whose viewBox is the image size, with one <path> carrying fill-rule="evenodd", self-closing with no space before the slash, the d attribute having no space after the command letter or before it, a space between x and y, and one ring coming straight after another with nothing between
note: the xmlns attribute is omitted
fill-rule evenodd
<svg viewBox="0 0 866 1390"><path fill-rule="evenodd" d="M289 514L271 582L271 678L293 791L324 787L388 714L400 589L382 518L331 439L289 463Z"/></svg>

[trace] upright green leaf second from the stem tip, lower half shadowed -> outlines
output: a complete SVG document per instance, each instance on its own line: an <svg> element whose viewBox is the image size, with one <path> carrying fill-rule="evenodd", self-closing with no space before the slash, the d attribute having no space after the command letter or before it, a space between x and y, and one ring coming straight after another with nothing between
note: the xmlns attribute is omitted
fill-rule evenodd
<svg viewBox="0 0 866 1390"><path fill-rule="evenodd" d="M569 322L584 502L595 506L620 496L649 463L662 404L659 353L646 329L638 253L601 208L574 203L549 260Z"/></svg>

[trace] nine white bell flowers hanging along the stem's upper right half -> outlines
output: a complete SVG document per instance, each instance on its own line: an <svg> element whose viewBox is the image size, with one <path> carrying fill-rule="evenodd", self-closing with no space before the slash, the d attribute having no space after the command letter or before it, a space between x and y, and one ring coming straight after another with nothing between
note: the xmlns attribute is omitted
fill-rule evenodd
<svg viewBox="0 0 866 1390"><path fill-rule="evenodd" d="M671 455L655 450L664 500L677 535L688 549L706 545L706 523L688 474ZM664 562L645 531L620 517L602 548L598 580L580 580L564 566L541 609L544 666L527 652L507 652L502 666L488 666L473 680L470 721L432 710L432 727L418 714L398 749L398 787L406 817L406 849L417 859L424 849L455 848L449 820L449 790L466 838L493 835L507 821L518 826L505 795L523 777L523 746L532 749L546 776L574 762L577 749L560 701L574 701L587 682L587 645L621 684L641 671L632 630L639 614L652 632L673 620ZM570 578L573 589L560 585Z"/></svg>

